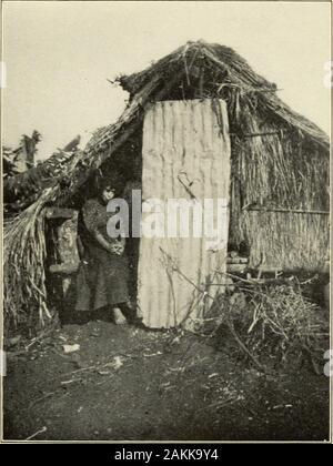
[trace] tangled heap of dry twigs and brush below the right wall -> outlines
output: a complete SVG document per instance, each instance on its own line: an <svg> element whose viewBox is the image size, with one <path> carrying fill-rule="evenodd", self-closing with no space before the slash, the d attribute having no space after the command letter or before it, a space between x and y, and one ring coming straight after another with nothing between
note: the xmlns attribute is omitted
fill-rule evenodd
<svg viewBox="0 0 333 466"><path fill-rule="evenodd" d="M219 296L219 327L210 331L218 346L225 345L231 333L238 342L236 355L260 369L268 372L272 364L295 367L307 361L320 373L329 321L306 297L306 282L290 277L284 283L234 283L235 293Z"/></svg>

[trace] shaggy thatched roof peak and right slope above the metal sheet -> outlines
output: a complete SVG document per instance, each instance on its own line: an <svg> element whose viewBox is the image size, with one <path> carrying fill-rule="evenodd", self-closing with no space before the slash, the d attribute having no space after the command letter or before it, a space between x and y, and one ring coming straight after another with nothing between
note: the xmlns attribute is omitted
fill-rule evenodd
<svg viewBox="0 0 333 466"><path fill-rule="evenodd" d="M276 95L276 84L256 74L248 62L234 50L220 44L206 42L188 42L186 45L170 53L168 57L153 63L148 69L119 79L122 88L131 95L138 93L158 73L170 79L174 73L186 68L188 74L200 71L200 67L214 70L219 79L214 85L239 87L244 93L260 97L259 104L265 107L266 112L281 118L286 124L299 129L304 135L314 139L319 144L329 148L329 136L314 123L300 113L294 112ZM222 81L223 80L223 81ZM221 85L220 85L221 84ZM221 89L220 89L221 90Z"/></svg>

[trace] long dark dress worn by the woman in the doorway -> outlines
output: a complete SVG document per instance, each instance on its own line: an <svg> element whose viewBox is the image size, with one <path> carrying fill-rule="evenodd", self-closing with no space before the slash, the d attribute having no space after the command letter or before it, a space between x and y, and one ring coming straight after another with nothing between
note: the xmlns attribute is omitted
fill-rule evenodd
<svg viewBox="0 0 333 466"><path fill-rule="evenodd" d="M94 239L98 231L109 242L107 223L112 216L98 199L85 202L82 209L80 237L84 255L77 277L77 311L90 311L129 301L128 257L104 250Z"/></svg>

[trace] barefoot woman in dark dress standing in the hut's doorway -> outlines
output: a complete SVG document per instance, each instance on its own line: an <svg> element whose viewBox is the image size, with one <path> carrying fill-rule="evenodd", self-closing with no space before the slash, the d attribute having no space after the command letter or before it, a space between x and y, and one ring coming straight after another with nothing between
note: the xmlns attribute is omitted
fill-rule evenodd
<svg viewBox="0 0 333 466"><path fill-rule="evenodd" d="M97 197L85 201L80 220L83 257L77 281L77 311L111 308L115 324L124 324L123 310L131 310L129 301L129 265L123 237L110 237L107 204L121 194L117 179L103 179Z"/></svg>

